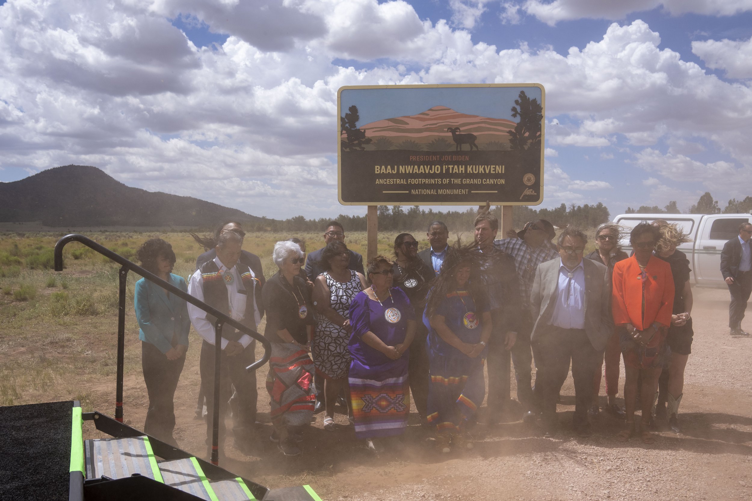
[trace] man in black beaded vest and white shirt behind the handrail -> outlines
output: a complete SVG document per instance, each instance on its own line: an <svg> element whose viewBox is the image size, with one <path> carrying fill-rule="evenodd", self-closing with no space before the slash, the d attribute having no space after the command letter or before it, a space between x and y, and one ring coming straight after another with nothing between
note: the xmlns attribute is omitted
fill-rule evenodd
<svg viewBox="0 0 752 501"><path fill-rule="evenodd" d="M243 240L232 231L217 239L217 257L207 261L191 276L188 293L209 306L229 315L241 324L256 330L261 314L256 306L256 296L261 294L259 279L246 264L238 261ZM200 371L206 394L207 445L211 445L214 414L214 322L217 318L202 309L188 305L193 328L204 339L201 349ZM235 386L238 401L237 415L233 415L235 448L246 452L250 445L251 431L256 421L256 373L245 368L253 363L255 343L253 338L229 325L222 330L220 346L220 416L226 414L229 400L229 383ZM220 420L220 444L225 436L224 420Z"/></svg>

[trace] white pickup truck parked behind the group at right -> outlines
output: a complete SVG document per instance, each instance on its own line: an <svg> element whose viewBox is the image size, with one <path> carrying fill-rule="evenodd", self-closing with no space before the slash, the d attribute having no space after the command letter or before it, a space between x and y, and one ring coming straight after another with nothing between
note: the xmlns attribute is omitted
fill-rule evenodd
<svg viewBox="0 0 752 501"><path fill-rule="evenodd" d="M724 243L739 234L742 222L752 222L752 214L620 214L614 222L634 228L641 221L653 222L656 219L679 223L692 238L693 241L678 246L690 260L692 285L726 288L720 275L720 251ZM620 245L627 254L632 253L629 234Z"/></svg>

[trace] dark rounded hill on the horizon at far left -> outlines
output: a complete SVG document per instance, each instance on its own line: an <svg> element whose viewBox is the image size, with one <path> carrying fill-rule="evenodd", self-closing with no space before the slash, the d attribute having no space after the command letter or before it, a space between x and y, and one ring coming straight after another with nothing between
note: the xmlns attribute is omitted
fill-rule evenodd
<svg viewBox="0 0 752 501"><path fill-rule="evenodd" d="M12 183L0 183L0 222L41 221L71 226L190 226L214 228L251 216L193 197L126 186L96 167L65 165Z"/></svg>

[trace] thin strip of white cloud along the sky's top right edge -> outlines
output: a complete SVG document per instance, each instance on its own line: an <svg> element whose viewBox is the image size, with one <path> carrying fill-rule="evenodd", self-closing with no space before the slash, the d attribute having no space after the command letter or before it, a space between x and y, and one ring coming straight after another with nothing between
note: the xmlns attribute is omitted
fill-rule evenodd
<svg viewBox="0 0 752 501"><path fill-rule="evenodd" d="M602 0L526 0L520 7L543 23L555 26L560 21L577 19L622 20L633 12L651 11L663 7L674 16L705 14L732 16L752 11L750 0L631 0L630 2L602 2Z"/></svg>

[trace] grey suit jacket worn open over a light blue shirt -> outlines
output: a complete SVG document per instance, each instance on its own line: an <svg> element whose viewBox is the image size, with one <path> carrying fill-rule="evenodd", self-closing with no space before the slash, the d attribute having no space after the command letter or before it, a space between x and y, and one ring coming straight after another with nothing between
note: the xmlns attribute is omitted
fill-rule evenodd
<svg viewBox="0 0 752 501"><path fill-rule="evenodd" d="M559 290L560 258L553 258L538 265L535 270L535 280L530 292L530 307L535 326L532 327L530 340L535 342L541 337L544 328L551 324L553 308L556 306L556 294ZM606 276L606 267L592 259L583 259L582 267L585 272L585 333L590 344L596 350L602 351L614 333L614 323L611 320L611 308L608 297L611 295L611 284Z"/></svg>

